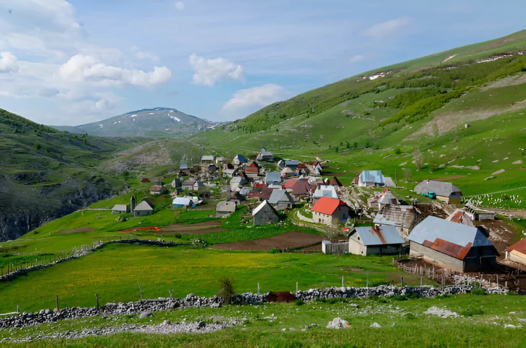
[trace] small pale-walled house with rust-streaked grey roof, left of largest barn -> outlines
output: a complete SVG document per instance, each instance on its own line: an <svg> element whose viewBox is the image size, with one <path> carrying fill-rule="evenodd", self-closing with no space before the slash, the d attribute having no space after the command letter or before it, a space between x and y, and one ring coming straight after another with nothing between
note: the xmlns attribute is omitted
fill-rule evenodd
<svg viewBox="0 0 526 348"><path fill-rule="evenodd" d="M350 254L398 255L403 251L403 243L395 226L356 227L349 233Z"/></svg>

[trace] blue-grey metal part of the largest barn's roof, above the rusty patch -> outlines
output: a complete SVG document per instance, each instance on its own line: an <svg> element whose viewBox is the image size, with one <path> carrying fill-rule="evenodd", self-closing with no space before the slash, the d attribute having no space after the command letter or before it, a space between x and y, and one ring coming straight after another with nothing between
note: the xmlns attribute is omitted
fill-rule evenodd
<svg viewBox="0 0 526 348"><path fill-rule="evenodd" d="M432 243L437 238L461 245L462 247L466 247L468 243L472 243L472 248L493 245L476 227L466 226L434 216L427 217L420 222L408 237L410 241L418 244L423 244L424 240Z"/></svg>

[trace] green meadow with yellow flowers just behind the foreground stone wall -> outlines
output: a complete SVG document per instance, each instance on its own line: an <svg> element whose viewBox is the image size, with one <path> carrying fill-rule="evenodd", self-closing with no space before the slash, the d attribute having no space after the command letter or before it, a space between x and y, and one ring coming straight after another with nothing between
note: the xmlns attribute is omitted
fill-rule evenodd
<svg viewBox="0 0 526 348"><path fill-rule="evenodd" d="M418 275L400 271L391 265L391 257L359 255L323 255L302 253L235 252L201 250L190 247L144 247L109 244L85 257L53 267L29 272L8 283L0 283L0 313L53 308L55 295L62 306L89 306L95 293L102 302L128 302L139 298L140 283L145 298L186 296L193 292L211 296L218 291L223 277L234 279L236 290L292 291L341 286L377 285L394 281L420 284ZM426 281L428 283L428 281Z"/></svg>

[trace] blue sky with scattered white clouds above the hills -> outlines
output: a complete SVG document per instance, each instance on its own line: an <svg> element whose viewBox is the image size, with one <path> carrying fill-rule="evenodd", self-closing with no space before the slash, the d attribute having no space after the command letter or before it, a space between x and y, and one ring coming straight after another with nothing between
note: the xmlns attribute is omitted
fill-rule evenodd
<svg viewBox="0 0 526 348"><path fill-rule="evenodd" d="M215 121L524 27L526 2L0 0L0 108L46 125Z"/></svg>

